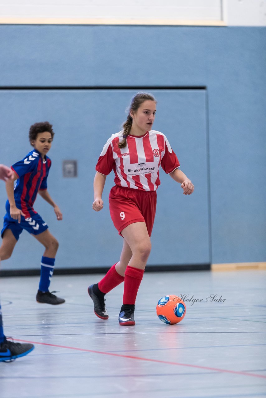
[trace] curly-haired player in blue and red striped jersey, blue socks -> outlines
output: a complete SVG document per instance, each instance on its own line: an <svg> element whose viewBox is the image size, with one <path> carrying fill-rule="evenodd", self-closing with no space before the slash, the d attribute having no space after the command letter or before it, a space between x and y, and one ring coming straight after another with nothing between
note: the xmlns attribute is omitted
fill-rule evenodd
<svg viewBox="0 0 266 398"><path fill-rule="evenodd" d="M35 123L30 127L29 139L33 150L19 162L13 164L13 174L6 181L6 215L1 231L2 246L0 259L10 258L22 230L27 230L43 246L45 252L41 258L41 278L36 300L47 304L62 304L63 298L49 292L49 285L55 265L58 242L48 231L46 222L33 209L37 193L53 206L57 220L62 220L59 207L53 202L47 191L47 177L51 160L47 152L51 148L54 132L48 122ZM16 185L14 188L14 181Z"/></svg>

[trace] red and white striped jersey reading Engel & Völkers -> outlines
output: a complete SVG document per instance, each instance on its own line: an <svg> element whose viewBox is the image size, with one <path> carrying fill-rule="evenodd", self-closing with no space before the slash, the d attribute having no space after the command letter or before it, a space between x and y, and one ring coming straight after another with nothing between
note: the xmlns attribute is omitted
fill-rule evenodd
<svg viewBox="0 0 266 398"><path fill-rule="evenodd" d="M128 135L126 146L119 148L123 131L108 139L100 154L96 171L107 176L114 170L114 182L120 187L156 191L160 185L159 167L169 174L179 161L166 136L160 131L147 131L141 137Z"/></svg>

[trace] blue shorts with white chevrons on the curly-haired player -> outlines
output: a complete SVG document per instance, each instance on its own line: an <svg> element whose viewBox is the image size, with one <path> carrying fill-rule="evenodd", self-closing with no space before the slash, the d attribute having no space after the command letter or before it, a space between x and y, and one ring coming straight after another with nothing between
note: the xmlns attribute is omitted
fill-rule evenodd
<svg viewBox="0 0 266 398"><path fill-rule="evenodd" d="M6 205L6 215L4 216L4 226L1 231L1 236L3 238L6 229L11 229L12 234L15 236L16 240L19 239L21 232L26 229L30 234L39 235L41 232L47 230L48 225L41 218L38 213L34 213L31 217L25 218L21 216L20 224L18 220L12 219L10 216L10 206L9 203Z"/></svg>

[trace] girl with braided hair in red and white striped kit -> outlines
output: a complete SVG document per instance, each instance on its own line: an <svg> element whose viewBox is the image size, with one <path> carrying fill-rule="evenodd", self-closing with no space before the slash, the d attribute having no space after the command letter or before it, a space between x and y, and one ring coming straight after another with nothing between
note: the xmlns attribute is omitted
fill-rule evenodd
<svg viewBox="0 0 266 398"><path fill-rule="evenodd" d="M105 179L114 170L115 186L109 195L110 215L124 243L120 261L99 283L91 285L88 292L95 314L108 319L104 295L124 281L120 325L135 324L136 296L151 250L156 190L160 185L159 167L181 184L184 195L194 191L190 179L179 170L179 161L166 136L152 130L155 113L155 98L148 93L137 93L132 98L123 130L108 139L96 166L93 210L102 210Z"/></svg>

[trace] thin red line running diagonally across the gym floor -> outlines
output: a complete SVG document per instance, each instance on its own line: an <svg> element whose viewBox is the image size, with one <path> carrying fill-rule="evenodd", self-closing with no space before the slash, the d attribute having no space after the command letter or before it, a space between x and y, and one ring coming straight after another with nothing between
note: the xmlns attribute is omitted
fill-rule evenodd
<svg viewBox="0 0 266 398"><path fill-rule="evenodd" d="M24 343L49 345L49 347L67 348L67 349L73 349L73 350L76 350L76 351L91 352L91 353L102 354L102 355L111 355L113 357L128 358L128 359L138 359L139 361L148 361L148 362L155 362L155 363L166 363L167 365L186 366L186 367L197 368L197 369L211 370L211 371L215 371L215 372L232 373L232 374L241 375L241 376L252 376L252 377L266 378L266 376L263 376L263 375L256 375L256 374L247 373L247 372L231 371L231 370L227 370L227 369L218 369L218 368L211 368L211 367L199 366L199 365L189 365L187 363L160 361L160 359L134 357L132 355L122 355L122 354L116 354L116 353L111 353L111 352L94 351L94 350L91 350L91 349L83 349L83 348L77 348L77 347L67 347L66 345L39 343L38 341L20 340L20 339L15 339L15 338L13 338L13 339L16 340L16 341L22 341Z"/></svg>

